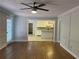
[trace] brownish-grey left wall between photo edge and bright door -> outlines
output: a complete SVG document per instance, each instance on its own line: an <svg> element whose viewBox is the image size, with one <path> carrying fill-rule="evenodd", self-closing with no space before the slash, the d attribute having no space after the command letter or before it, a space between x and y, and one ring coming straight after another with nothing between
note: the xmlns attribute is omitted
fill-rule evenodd
<svg viewBox="0 0 79 59"><path fill-rule="evenodd" d="M0 7L0 49L4 48L8 44L6 20L11 15L14 15L14 14Z"/></svg>

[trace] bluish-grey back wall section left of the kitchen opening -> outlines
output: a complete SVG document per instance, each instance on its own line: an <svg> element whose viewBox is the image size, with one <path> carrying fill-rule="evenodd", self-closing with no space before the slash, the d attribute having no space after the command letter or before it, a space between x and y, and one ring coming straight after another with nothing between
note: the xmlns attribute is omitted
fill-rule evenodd
<svg viewBox="0 0 79 59"><path fill-rule="evenodd" d="M27 40L27 18L17 16L15 19L15 41Z"/></svg>

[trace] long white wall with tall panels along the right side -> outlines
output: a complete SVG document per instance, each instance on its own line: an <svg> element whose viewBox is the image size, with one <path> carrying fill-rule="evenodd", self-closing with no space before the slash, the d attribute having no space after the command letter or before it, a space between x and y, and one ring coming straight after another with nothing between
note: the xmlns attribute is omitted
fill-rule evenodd
<svg viewBox="0 0 79 59"><path fill-rule="evenodd" d="M79 59L79 6L59 16L60 45Z"/></svg>

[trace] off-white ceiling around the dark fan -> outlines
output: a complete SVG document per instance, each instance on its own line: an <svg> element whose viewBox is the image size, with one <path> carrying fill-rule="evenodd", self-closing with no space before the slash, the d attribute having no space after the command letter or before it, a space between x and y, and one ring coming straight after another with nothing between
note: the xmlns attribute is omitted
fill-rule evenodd
<svg viewBox="0 0 79 59"><path fill-rule="evenodd" d="M49 12L38 10L37 14L32 14L31 10L20 10L27 7L21 5L21 2L31 4L34 1L45 3L43 8L49 9ZM27 17L56 17L61 13L79 5L79 0L0 0L0 6L20 16Z"/></svg>

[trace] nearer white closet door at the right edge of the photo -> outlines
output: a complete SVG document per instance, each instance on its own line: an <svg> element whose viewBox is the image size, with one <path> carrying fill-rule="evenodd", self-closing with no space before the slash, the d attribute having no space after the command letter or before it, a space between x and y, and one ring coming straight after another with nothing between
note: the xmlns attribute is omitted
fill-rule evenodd
<svg viewBox="0 0 79 59"><path fill-rule="evenodd" d="M71 15L70 48L79 57L79 9Z"/></svg>

